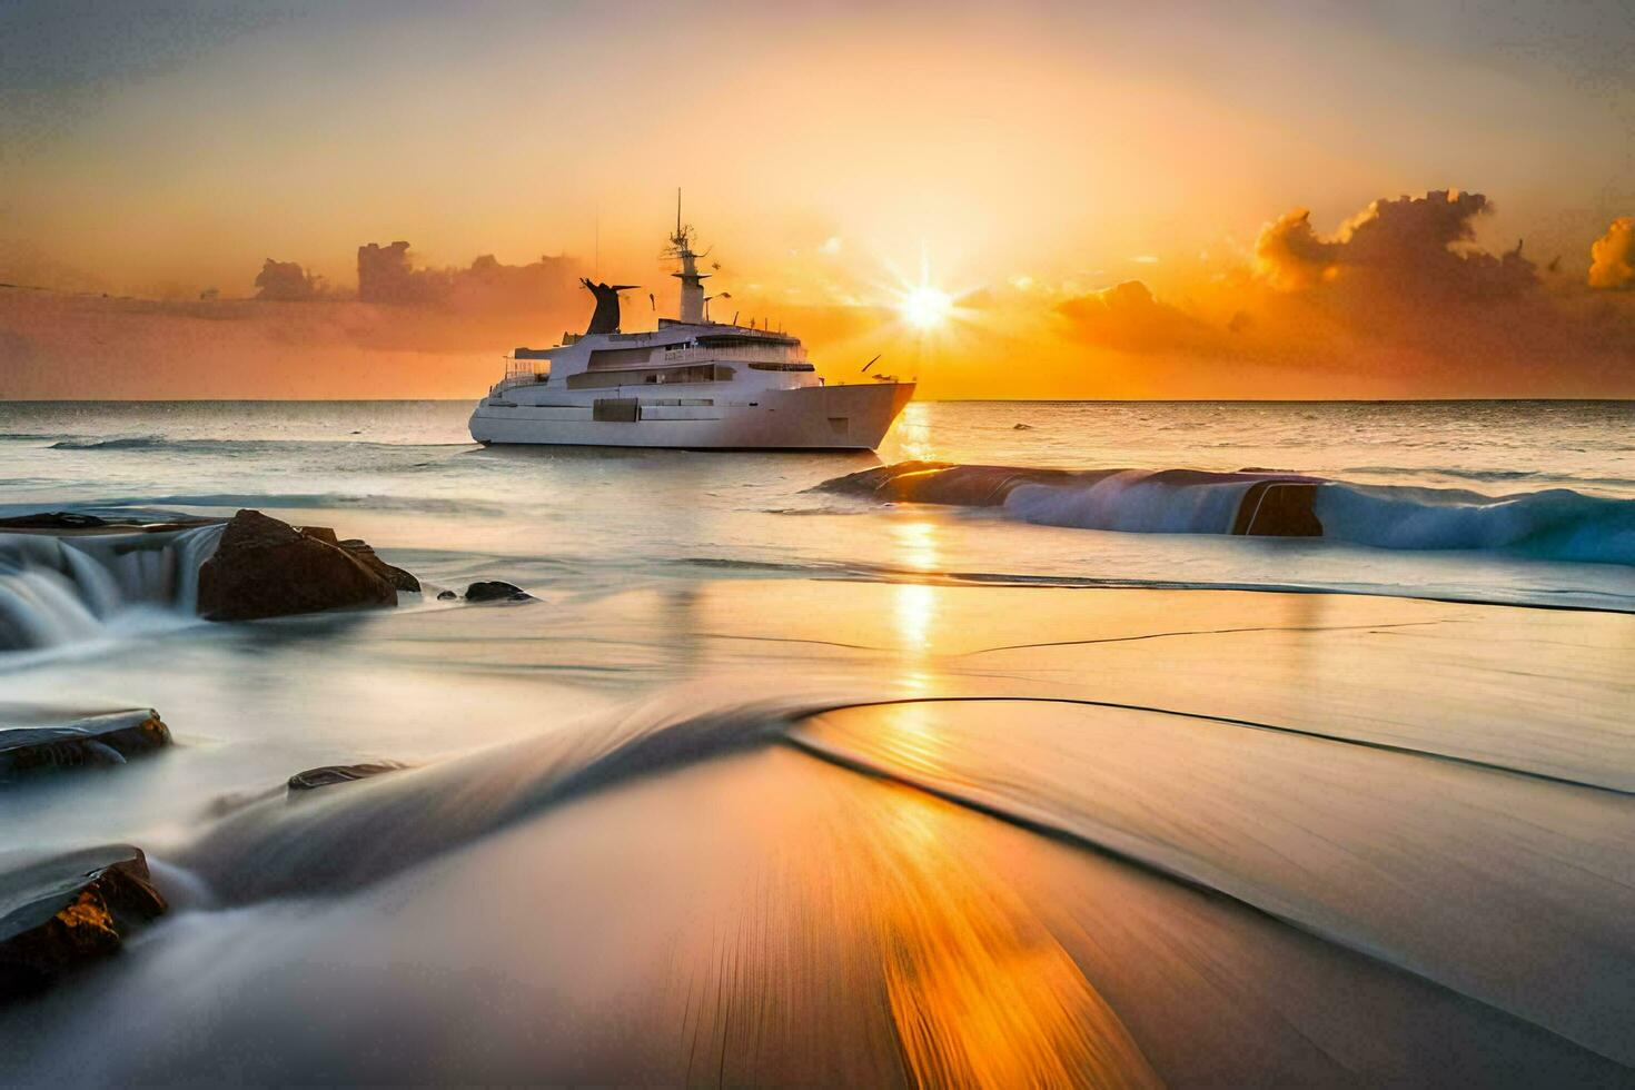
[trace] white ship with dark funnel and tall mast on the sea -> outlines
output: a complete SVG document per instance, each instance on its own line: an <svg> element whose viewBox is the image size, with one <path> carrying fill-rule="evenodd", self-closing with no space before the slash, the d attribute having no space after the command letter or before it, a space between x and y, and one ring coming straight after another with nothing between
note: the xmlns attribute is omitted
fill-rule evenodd
<svg viewBox="0 0 1635 1090"><path fill-rule="evenodd" d="M687 449L875 449L914 395L914 382L875 374L835 384L818 376L783 330L711 322L710 299L682 224L667 257L680 261L682 314L659 328L620 332L620 291L595 296L590 327L554 348L518 348L505 377L471 413L471 438L569 446ZM871 364L873 361L870 361ZM863 371L868 371L865 364Z"/></svg>

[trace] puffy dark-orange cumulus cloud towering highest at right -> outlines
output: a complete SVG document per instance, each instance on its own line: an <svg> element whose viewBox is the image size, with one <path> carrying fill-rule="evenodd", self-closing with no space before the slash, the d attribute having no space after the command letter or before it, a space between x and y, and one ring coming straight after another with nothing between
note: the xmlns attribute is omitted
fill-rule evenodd
<svg viewBox="0 0 1635 1090"><path fill-rule="evenodd" d="M1373 201L1323 237L1295 209L1261 230L1256 271L1288 293L1360 289L1444 304L1516 296L1537 284L1537 270L1521 243L1503 255L1475 247L1476 219L1491 211L1481 193L1434 190Z"/></svg>

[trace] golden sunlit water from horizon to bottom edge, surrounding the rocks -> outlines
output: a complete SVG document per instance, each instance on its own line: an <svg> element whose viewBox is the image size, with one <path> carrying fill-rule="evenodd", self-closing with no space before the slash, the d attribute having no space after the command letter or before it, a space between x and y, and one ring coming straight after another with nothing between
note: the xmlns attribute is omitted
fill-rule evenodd
<svg viewBox="0 0 1635 1090"><path fill-rule="evenodd" d="M538 598L209 624L213 528L0 533L0 713L175 734L0 783L0 851L136 843L172 900L0 1008L0 1082L1632 1077L1635 407L912 404L764 456L468 409L0 405L0 516L255 507ZM819 487L907 459L1125 472ZM1243 469L1328 536L1226 533ZM284 794L361 760L410 768Z"/></svg>

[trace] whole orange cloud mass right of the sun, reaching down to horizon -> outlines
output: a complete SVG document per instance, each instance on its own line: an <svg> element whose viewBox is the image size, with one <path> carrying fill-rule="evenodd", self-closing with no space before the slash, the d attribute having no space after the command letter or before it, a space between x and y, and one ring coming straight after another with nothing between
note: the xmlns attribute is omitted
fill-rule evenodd
<svg viewBox="0 0 1635 1090"><path fill-rule="evenodd" d="M1635 291L1547 283L1519 243L1486 250L1476 226L1489 211L1481 193L1382 198L1326 235L1295 209L1184 302L1127 281L1069 289L1050 314L1097 389L1123 395L1635 392ZM1615 224L1597 243L1602 283L1635 288L1617 265L1635 257L1630 234Z"/></svg>

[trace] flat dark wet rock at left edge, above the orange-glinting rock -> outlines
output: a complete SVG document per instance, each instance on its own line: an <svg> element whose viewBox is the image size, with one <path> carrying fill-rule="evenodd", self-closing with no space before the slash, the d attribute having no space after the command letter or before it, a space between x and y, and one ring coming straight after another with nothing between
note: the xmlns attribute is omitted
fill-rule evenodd
<svg viewBox="0 0 1635 1090"><path fill-rule="evenodd" d="M123 765L170 745L150 708L88 716L0 706L0 780L51 768Z"/></svg>

